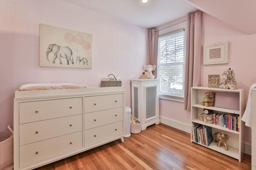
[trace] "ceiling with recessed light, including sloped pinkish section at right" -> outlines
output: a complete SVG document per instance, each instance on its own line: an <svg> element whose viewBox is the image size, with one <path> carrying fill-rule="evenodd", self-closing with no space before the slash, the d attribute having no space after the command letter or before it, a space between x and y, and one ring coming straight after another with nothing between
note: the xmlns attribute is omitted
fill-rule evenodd
<svg viewBox="0 0 256 170"><path fill-rule="evenodd" d="M256 34L256 0L63 0L146 28L201 10L249 35Z"/></svg>

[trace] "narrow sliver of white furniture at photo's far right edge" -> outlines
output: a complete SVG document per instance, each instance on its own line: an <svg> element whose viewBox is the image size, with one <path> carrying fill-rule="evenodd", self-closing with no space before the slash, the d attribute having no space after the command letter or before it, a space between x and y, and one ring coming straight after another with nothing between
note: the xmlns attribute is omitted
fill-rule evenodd
<svg viewBox="0 0 256 170"><path fill-rule="evenodd" d="M252 89L252 170L256 170L256 88Z"/></svg>

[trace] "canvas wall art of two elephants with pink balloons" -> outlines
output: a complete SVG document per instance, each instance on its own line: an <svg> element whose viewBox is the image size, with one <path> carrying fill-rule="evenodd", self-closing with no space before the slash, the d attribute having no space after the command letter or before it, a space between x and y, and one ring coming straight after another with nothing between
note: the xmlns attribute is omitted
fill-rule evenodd
<svg viewBox="0 0 256 170"><path fill-rule="evenodd" d="M39 66L92 68L92 34L40 23Z"/></svg>

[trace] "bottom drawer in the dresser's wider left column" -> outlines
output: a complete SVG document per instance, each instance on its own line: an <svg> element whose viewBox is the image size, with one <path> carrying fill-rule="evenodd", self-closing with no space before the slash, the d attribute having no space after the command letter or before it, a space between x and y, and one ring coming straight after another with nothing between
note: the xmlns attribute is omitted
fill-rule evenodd
<svg viewBox="0 0 256 170"><path fill-rule="evenodd" d="M82 148L82 131L20 147L20 167Z"/></svg>

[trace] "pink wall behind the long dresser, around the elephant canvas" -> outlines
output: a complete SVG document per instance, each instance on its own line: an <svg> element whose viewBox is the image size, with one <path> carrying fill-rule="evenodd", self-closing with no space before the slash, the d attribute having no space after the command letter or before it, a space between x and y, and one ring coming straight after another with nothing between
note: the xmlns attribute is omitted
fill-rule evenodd
<svg viewBox="0 0 256 170"><path fill-rule="evenodd" d="M92 34L92 69L39 67L39 23ZM61 0L0 0L0 131L13 125L14 92L22 84L69 82L100 85L122 78L126 106L130 79L148 63L148 30Z"/></svg>

